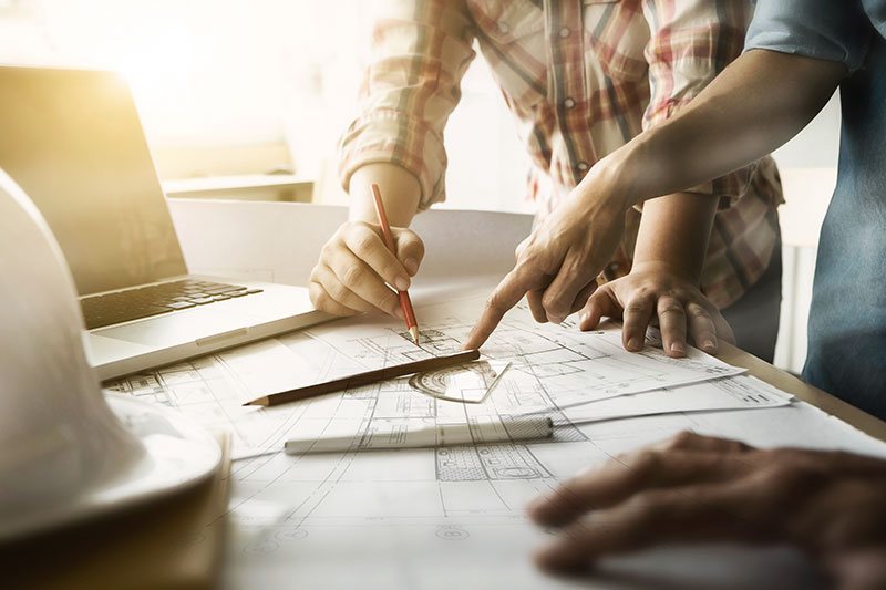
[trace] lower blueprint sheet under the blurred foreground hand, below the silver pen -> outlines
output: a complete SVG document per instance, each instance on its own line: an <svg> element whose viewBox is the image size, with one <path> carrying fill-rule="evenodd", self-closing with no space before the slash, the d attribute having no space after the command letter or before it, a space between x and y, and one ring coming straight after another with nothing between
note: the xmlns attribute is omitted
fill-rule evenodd
<svg viewBox="0 0 886 590"><path fill-rule="evenodd" d="M226 571L226 586L558 588L528 559L529 551L546 540L524 516L533 497L581 468L678 431L722 434L711 418L734 414L748 416L742 438L758 445L773 439L770 423L781 423L790 414L795 415L791 421L795 427L777 434L780 444L808 446L823 431L834 432L821 412L797 404L602 422L580 426L558 443L275 455L239 462L231 513L233 567ZM761 415L769 420L759 426ZM853 438L841 432L837 438L831 441L836 447L864 444L857 433ZM886 456L883 445L877 448ZM765 550L659 551L628 560L627 571L636 571L638 561L647 572L678 572L676 579L684 583L677 587L717 588L717 580L723 580L717 568L730 572L729 588L810 588L814 580L802 558ZM705 567L699 568L699 562ZM640 578L620 587L649 583Z"/></svg>

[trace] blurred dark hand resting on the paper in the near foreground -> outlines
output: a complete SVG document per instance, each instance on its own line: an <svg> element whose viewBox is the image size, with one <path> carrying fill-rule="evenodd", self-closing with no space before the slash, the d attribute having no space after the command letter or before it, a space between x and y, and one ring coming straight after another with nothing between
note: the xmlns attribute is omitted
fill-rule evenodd
<svg viewBox="0 0 886 590"><path fill-rule="evenodd" d="M886 460L842 452L761 451L681 433L536 499L562 527L536 560L548 571L668 542L789 542L841 588L886 588Z"/></svg>

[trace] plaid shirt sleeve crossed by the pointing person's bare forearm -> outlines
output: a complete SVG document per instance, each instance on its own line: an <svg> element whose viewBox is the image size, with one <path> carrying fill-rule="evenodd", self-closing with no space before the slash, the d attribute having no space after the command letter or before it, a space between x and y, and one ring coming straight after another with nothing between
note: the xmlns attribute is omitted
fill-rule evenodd
<svg viewBox="0 0 886 590"><path fill-rule="evenodd" d="M679 113L741 55L751 13L750 2L735 0L643 0L651 94L643 130ZM752 164L688 192L717 195L721 206L729 206L748 190L755 168Z"/></svg>

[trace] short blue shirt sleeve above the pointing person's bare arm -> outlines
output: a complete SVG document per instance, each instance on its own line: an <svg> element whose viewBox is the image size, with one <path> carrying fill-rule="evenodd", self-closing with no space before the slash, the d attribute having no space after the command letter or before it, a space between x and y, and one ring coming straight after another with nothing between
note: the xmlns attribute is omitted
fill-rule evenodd
<svg viewBox="0 0 886 590"><path fill-rule="evenodd" d="M744 51L767 49L862 66L870 21L859 0L759 0Z"/></svg>

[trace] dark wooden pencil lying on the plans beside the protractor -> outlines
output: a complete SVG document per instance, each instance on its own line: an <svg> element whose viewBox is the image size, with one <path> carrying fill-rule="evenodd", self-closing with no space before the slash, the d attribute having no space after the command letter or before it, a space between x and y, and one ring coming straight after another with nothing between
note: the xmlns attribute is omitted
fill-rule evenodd
<svg viewBox="0 0 886 590"><path fill-rule="evenodd" d="M424 371L436 371L439 369L446 369L456 366L471 361L480 359L480 351L466 350L456 352L454 354L446 354L444 356L433 356L431 359L422 359L421 361L412 361L410 363L395 364L385 366L383 369L374 369L363 373L356 373L346 377L327 381L324 383L315 383L313 385L306 385L303 387L296 387L295 390L284 391L279 393L271 393L261 397L257 397L251 402L246 402L243 405L262 405L271 406L337 391L347 390L350 387L359 387L385 381L388 379L400 377L403 375L411 375L412 373L421 373Z"/></svg>

